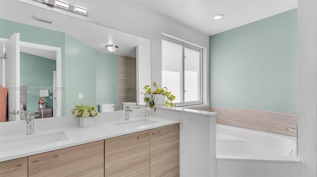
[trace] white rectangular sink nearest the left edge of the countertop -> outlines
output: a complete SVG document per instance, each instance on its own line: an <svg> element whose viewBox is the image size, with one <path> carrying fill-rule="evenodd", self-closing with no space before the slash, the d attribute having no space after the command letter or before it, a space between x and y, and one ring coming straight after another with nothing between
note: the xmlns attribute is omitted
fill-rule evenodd
<svg viewBox="0 0 317 177"><path fill-rule="evenodd" d="M0 150L8 151L20 148L33 147L51 142L61 142L68 140L66 134L60 130L47 130L35 132L32 135L16 134L1 136Z"/></svg>

